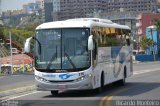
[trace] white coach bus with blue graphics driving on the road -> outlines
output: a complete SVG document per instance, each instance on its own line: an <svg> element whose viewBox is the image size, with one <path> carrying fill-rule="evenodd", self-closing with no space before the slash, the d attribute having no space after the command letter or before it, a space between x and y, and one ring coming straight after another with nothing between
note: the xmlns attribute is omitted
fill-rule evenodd
<svg viewBox="0 0 160 106"><path fill-rule="evenodd" d="M37 90L102 91L107 84L133 74L131 30L107 19L77 18L48 22L26 39L34 40L34 74Z"/></svg>

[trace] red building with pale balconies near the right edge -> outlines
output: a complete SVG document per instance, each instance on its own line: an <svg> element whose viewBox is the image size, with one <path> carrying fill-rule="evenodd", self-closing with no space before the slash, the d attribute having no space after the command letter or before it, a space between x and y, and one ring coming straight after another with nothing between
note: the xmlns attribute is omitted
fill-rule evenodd
<svg viewBox="0 0 160 106"><path fill-rule="evenodd" d="M146 35L146 28L148 26L154 25L154 19L160 19L160 14L140 14L137 17L137 23L136 23L136 27L138 30L138 35L139 36L145 36Z"/></svg>

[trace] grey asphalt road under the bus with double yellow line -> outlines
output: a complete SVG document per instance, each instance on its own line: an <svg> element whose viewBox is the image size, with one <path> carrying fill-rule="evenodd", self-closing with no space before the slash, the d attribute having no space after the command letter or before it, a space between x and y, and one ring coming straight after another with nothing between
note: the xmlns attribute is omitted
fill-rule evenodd
<svg viewBox="0 0 160 106"><path fill-rule="evenodd" d="M159 63L134 64L134 75L125 86L110 84L102 93L70 91L54 97L50 92L33 91L7 99L18 106L160 106L159 67Z"/></svg>

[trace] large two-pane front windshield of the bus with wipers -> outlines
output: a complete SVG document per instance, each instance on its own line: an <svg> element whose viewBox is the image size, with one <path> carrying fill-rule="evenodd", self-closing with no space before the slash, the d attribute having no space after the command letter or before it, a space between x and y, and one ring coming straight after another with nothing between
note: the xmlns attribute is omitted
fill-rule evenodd
<svg viewBox="0 0 160 106"><path fill-rule="evenodd" d="M35 35L35 68L81 71L90 67L88 28L41 29Z"/></svg>

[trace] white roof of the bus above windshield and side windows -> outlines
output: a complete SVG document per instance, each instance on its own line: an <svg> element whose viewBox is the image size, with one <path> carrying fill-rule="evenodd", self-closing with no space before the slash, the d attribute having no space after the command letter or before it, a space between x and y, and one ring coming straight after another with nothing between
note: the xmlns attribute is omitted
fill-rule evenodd
<svg viewBox="0 0 160 106"><path fill-rule="evenodd" d="M121 29L129 29L126 25L119 25L113 23L107 19L99 19L99 18L76 18L76 19L68 19L64 21L54 21L43 23L39 25L36 30L39 29L51 29L51 28L90 28L93 26L102 26L102 27L114 27Z"/></svg>

